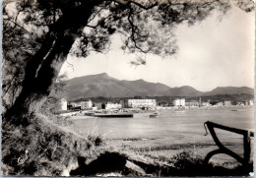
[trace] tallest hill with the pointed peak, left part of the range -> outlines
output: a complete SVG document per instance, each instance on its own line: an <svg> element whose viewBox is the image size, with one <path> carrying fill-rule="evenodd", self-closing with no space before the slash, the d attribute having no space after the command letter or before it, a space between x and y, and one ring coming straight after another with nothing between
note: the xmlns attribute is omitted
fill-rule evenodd
<svg viewBox="0 0 256 178"><path fill-rule="evenodd" d="M98 74L74 78L67 81L68 99L85 97L125 97L162 95L169 87L162 84L148 83L143 80L118 81L107 74Z"/></svg>

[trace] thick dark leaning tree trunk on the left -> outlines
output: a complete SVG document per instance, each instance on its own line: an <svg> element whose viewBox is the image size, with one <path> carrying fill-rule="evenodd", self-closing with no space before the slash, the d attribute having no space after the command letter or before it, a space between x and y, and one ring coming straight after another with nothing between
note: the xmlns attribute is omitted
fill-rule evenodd
<svg viewBox="0 0 256 178"><path fill-rule="evenodd" d="M95 5L89 3L66 10L49 28L40 49L27 63L23 89L14 105L7 110L4 119L14 120L17 124L24 123L45 101L73 43L87 25Z"/></svg>

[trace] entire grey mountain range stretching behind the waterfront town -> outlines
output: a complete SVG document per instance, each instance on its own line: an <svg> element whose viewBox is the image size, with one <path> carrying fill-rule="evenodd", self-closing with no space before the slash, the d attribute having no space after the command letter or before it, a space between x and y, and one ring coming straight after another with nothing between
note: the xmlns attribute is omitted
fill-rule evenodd
<svg viewBox="0 0 256 178"><path fill-rule="evenodd" d="M119 81L107 74L78 77L67 81L67 99L75 100L87 97L131 97L131 96L205 96L218 94L253 94L254 89L247 87L216 88L203 92L189 86L170 88L160 83L144 80Z"/></svg>

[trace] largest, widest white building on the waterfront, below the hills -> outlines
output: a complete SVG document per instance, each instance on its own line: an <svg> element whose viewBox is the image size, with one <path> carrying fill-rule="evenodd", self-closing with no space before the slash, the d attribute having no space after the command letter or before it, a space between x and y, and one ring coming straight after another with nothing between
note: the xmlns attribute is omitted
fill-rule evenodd
<svg viewBox="0 0 256 178"><path fill-rule="evenodd" d="M155 108L157 107L157 100L156 99L128 99L128 107Z"/></svg>

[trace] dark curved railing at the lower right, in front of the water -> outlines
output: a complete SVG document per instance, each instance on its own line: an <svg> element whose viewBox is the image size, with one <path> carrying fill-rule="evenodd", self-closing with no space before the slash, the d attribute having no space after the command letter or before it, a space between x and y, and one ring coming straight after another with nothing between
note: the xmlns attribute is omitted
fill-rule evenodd
<svg viewBox="0 0 256 178"><path fill-rule="evenodd" d="M247 165L249 163L250 152L251 152L251 138L250 137L254 137L253 132L249 132L249 131L242 130L242 129L226 127L226 126L216 124L216 123L210 122L210 121L205 122L204 126L206 129L206 135L208 134L207 128L206 128L206 126L207 126L216 145L219 147L218 149L213 150L206 155L206 158L204 160L205 163L208 163L210 158L213 155L218 154L218 153L225 153L227 155L230 155L231 157L235 158L237 161L242 163L242 165ZM219 138L216 135L215 128L222 129L222 130L229 131L229 132L236 133L236 134L240 134L243 136L243 149L244 149L243 157L241 157L237 153L233 152L232 150L224 147L224 145L220 142Z"/></svg>

